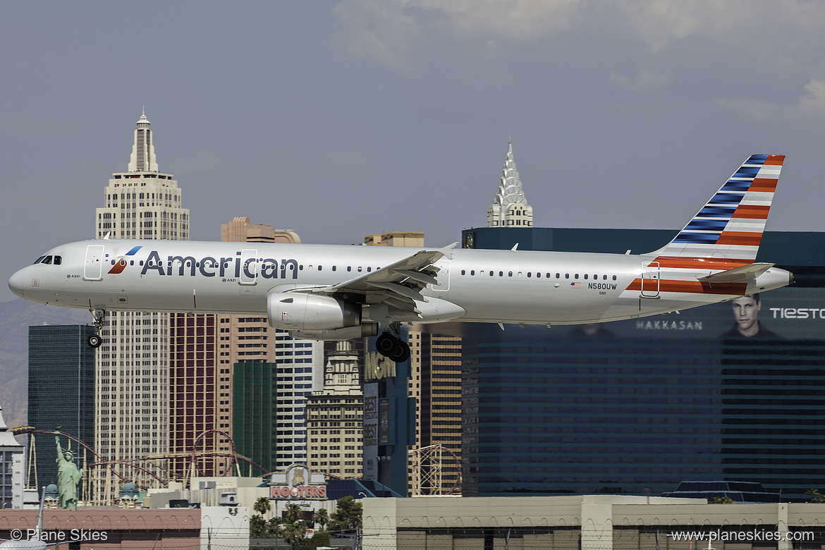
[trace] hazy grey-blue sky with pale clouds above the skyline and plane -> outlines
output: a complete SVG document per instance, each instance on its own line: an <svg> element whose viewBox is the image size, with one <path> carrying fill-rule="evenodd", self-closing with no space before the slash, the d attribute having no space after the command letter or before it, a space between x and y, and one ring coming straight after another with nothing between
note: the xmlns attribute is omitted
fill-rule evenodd
<svg viewBox="0 0 825 550"><path fill-rule="evenodd" d="M825 2L3 2L2 275L94 237L145 108L191 238L487 223L507 143L537 227L678 230L785 154L768 230L823 231ZM664 244L664 243L662 243ZM2 285L0 301L14 299Z"/></svg>

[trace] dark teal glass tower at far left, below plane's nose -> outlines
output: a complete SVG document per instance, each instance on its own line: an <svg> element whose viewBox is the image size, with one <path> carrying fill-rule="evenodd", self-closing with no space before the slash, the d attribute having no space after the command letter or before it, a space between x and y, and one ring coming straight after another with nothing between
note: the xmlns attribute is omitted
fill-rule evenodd
<svg viewBox="0 0 825 550"><path fill-rule="evenodd" d="M86 344L94 331L91 325L29 327L29 425L36 430L59 427L88 445L94 443L95 350ZM30 445L34 468L28 483L39 490L57 483L57 452L49 435L29 437L36 440ZM82 453L76 447L70 450L76 457L78 450Z"/></svg>

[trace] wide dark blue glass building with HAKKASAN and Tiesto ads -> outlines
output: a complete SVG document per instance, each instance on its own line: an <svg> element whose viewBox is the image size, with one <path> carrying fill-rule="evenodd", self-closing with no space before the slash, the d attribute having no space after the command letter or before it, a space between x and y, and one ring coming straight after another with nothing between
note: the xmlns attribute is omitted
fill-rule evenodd
<svg viewBox="0 0 825 550"><path fill-rule="evenodd" d="M624 253L673 232L469 229L475 247ZM463 337L464 495L658 495L758 482L783 501L825 486L825 234L765 233L757 261L795 284L753 299L571 327L451 325ZM439 331L453 330L447 326Z"/></svg>

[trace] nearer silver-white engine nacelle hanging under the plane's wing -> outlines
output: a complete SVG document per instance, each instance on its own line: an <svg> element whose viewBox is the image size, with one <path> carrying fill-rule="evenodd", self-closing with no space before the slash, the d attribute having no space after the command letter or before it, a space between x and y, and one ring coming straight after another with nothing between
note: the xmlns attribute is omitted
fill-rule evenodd
<svg viewBox="0 0 825 550"><path fill-rule="evenodd" d="M270 327L285 331L332 331L361 325L361 305L298 292L269 294L266 314Z"/></svg>

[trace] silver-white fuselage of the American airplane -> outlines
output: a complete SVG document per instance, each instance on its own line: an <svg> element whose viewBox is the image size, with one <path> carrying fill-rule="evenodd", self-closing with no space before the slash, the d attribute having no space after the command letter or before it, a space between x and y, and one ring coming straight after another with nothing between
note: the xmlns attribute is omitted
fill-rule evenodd
<svg viewBox="0 0 825 550"><path fill-rule="evenodd" d="M266 315L270 293L355 280L416 250L104 239L55 247L46 254L59 256L59 265L28 266L9 287L25 299L68 308ZM438 284L422 290L421 317L405 321L605 322L721 302L792 280L772 267L745 283L703 285L698 278L722 269L573 252L456 249L434 266ZM368 297L342 299L367 306L370 318Z"/></svg>

